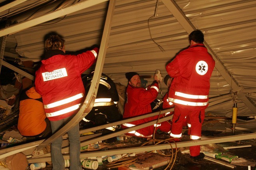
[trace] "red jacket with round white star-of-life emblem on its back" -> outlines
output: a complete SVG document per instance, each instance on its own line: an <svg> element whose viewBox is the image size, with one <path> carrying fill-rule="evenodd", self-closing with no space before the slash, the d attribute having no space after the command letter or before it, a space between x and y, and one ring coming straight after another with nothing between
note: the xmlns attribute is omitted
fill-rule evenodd
<svg viewBox="0 0 256 170"><path fill-rule="evenodd" d="M169 101L190 110L207 108L210 77L215 62L203 44L189 46L167 64L167 73L174 77Z"/></svg>

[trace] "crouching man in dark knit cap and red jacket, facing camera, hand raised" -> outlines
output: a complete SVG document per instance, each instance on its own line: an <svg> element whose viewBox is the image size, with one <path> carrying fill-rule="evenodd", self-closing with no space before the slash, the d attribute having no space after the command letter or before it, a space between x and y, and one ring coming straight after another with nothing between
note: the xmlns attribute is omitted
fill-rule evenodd
<svg viewBox="0 0 256 170"><path fill-rule="evenodd" d="M140 76L136 72L128 72L125 74L128 79L128 86L126 89L126 103L124 105L123 118L131 118L139 115L144 115L146 113L151 113L151 103L158 96L158 77L154 75L154 82L152 85L148 86L146 89L141 87ZM143 124L152 120L156 120L158 116L148 117L141 120L136 120L133 122L125 123L122 125L123 128L132 127L135 125ZM167 129L165 132L168 134L170 131L169 127L162 127L160 125L157 129L160 134L162 134L162 129ZM162 128L162 129L161 129ZM128 135L138 136L138 137L153 137L154 125L138 129L136 131L129 132ZM168 134L170 137L170 134Z"/></svg>

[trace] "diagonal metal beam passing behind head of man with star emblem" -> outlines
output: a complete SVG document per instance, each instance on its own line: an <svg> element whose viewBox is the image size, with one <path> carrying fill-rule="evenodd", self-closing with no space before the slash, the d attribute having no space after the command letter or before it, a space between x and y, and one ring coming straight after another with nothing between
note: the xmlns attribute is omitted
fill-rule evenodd
<svg viewBox="0 0 256 170"><path fill-rule="evenodd" d="M177 3L174 0L162 0L168 10L174 15L177 21L181 24L181 26L187 31L187 33L191 33L196 28L186 17L184 12L180 9ZM223 63L219 60L214 51L210 48L206 41L204 41L204 45L208 48L208 52L212 55L215 60L215 68L219 71L221 76L230 84L232 92L238 92L237 96L245 103L245 105L251 109L252 112L256 113L256 104L247 98L246 94L239 92L241 87L238 83L233 79L230 72L226 69Z"/></svg>

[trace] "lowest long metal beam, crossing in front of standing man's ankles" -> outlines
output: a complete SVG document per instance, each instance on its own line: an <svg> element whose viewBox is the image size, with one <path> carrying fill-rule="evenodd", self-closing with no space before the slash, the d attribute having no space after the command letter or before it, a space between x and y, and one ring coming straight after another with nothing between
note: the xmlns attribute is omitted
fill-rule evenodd
<svg viewBox="0 0 256 170"><path fill-rule="evenodd" d="M176 144L177 144L177 148L181 148L181 147L188 147L188 146L224 143L224 142L239 141L239 140L254 139L254 138L256 138L256 133L215 137L215 138L195 140L195 141L178 142ZM161 150L161 149L172 149L175 147L176 147L175 143L170 143L170 144L158 144L158 145L150 145L150 146L139 146L139 147L133 147L133 148L113 149L113 150L107 150L107 151L95 151L95 152L81 153L80 158L89 158L89 157L95 157L95 156L109 156L109 155L117 155L117 154L124 154L124 153L147 152L147 151L154 151L154 150ZM69 155L63 155L63 157L65 160L69 159ZM45 162L45 161L51 161L51 156L28 159L28 163Z"/></svg>

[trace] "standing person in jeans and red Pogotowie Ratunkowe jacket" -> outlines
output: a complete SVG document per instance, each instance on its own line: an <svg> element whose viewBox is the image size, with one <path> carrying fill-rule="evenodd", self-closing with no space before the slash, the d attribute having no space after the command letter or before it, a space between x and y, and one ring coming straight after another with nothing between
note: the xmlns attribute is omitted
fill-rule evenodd
<svg viewBox="0 0 256 170"><path fill-rule="evenodd" d="M35 88L41 94L52 132L57 132L78 112L84 101L85 90L81 74L98 55L98 48L78 55L65 55L65 40L51 35L45 41L45 58L36 72ZM79 124L68 132L70 170L82 170L80 162ZM51 144L53 170L63 170L62 136Z"/></svg>

